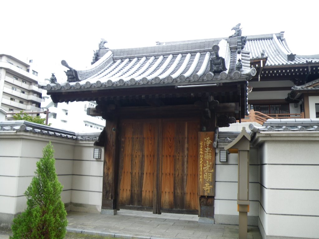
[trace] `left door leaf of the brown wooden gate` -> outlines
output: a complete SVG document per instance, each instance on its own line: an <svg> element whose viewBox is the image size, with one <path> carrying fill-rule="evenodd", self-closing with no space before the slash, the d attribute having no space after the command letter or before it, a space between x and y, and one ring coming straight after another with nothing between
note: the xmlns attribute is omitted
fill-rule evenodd
<svg viewBox="0 0 319 239"><path fill-rule="evenodd" d="M122 207L156 209L158 128L158 120L121 123L119 204Z"/></svg>

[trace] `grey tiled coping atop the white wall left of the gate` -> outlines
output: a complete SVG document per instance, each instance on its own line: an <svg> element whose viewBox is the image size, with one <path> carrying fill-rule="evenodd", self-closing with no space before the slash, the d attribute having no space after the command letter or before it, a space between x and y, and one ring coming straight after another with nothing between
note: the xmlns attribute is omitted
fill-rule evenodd
<svg viewBox="0 0 319 239"><path fill-rule="evenodd" d="M25 120L0 121L0 131L24 131L79 141L96 141L100 135L100 132L78 134Z"/></svg>

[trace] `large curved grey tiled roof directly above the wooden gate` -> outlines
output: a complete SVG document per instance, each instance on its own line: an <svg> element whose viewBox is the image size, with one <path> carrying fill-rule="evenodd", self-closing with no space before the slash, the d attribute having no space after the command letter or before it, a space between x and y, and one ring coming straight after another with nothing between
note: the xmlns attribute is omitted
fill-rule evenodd
<svg viewBox="0 0 319 239"><path fill-rule="evenodd" d="M218 44L219 56L225 59L226 70L211 72L213 45ZM238 59L242 69L236 70ZM78 82L42 85L48 91L125 87L133 85L178 84L183 82L217 83L220 80L246 80L256 74L250 68L249 51L237 53L237 38L195 40L154 47L100 49L97 61L85 70L77 70ZM248 60L247 60L248 59ZM65 61L62 64L67 66Z"/></svg>

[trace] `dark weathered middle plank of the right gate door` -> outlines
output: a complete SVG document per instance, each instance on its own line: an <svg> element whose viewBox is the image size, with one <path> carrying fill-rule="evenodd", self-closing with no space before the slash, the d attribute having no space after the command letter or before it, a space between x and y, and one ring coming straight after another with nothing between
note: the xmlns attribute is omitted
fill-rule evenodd
<svg viewBox="0 0 319 239"><path fill-rule="evenodd" d="M185 209L186 122L175 122L174 133L174 209Z"/></svg>

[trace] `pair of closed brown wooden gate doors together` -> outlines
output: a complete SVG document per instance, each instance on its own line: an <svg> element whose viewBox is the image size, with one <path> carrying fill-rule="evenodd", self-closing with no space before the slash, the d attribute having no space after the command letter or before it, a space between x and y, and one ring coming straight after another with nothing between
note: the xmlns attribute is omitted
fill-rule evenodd
<svg viewBox="0 0 319 239"><path fill-rule="evenodd" d="M196 120L123 120L119 207L198 213Z"/></svg>

